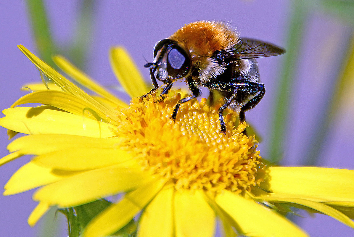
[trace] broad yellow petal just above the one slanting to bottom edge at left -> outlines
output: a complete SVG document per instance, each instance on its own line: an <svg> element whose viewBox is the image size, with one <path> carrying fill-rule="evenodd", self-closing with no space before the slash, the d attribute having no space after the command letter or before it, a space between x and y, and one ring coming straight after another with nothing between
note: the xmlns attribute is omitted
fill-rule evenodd
<svg viewBox="0 0 354 237"><path fill-rule="evenodd" d="M79 173L42 187L33 196L59 207L72 207L136 189L150 181L150 175L140 169L105 167Z"/></svg>

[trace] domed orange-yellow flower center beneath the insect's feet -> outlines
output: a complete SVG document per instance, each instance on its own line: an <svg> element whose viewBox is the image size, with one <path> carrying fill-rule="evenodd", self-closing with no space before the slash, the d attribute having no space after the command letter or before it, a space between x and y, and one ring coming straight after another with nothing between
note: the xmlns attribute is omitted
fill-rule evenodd
<svg viewBox="0 0 354 237"><path fill-rule="evenodd" d="M172 92L175 93L175 92ZM242 134L246 123L234 127L237 115L225 116L227 134L219 133L217 108L192 100L181 105L176 121L170 119L181 93L164 102L133 99L118 109L115 131L123 147L133 152L145 170L167 179L176 189L234 192L259 185L263 165L254 137Z"/></svg>

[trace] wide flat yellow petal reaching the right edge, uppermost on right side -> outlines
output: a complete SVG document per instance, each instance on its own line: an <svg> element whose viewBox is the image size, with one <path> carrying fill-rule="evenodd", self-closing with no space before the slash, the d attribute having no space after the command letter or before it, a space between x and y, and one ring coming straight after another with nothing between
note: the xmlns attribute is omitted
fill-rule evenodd
<svg viewBox="0 0 354 237"><path fill-rule="evenodd" d="M354 170L319 167L270 167L269 189L312 201L354 202Z"/></svg>

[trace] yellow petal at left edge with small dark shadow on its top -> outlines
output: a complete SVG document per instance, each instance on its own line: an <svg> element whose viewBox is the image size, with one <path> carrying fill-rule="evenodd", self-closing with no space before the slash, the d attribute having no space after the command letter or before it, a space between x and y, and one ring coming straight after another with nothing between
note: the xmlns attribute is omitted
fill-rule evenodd
<svg viewBox="0 0 354 237"><path fill-rule="evenodd" d="M55 110L51 106L18 107L2 111L0 126L25 134L71 134L105 138L115 134L111 125Z"/></svg>

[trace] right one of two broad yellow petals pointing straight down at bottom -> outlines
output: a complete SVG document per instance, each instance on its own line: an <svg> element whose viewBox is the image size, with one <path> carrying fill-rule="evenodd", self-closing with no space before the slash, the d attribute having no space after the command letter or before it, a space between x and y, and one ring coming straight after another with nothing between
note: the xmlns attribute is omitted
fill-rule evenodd
<svg viewBox="0 0 354 237"><path fill-rule="evenodd" d="M215 214L202 190L175 192L176 237L212 237Z"/></svg>

